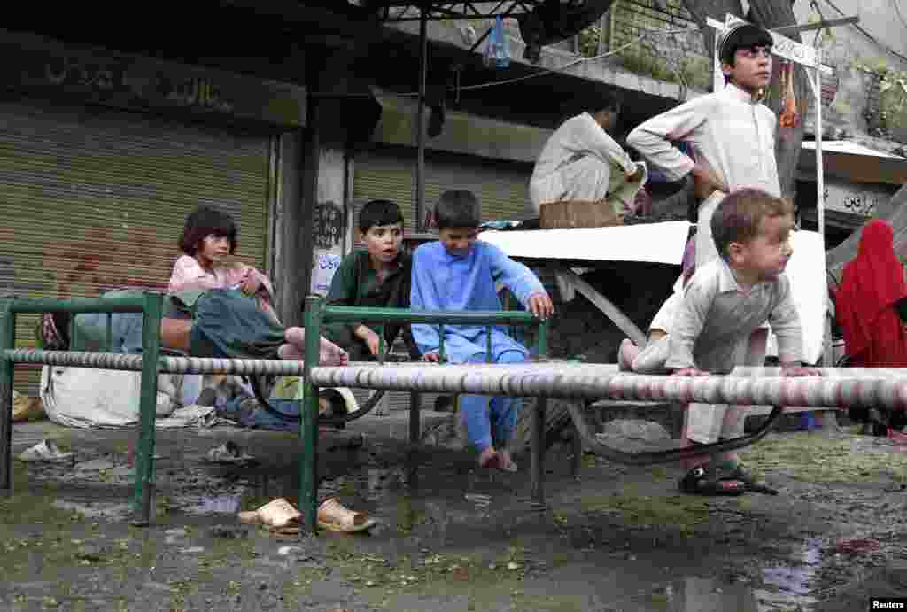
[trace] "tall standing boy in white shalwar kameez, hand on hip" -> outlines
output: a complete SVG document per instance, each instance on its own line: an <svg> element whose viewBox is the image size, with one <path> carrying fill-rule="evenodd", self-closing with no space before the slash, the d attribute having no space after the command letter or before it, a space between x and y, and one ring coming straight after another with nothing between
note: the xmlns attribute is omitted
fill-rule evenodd
<svg viewBox="0 0 907 612"><path fill-rule="evenodd" d="M772 43L771 34L754 24L728 28L718 40L718 59L726 87L645 121L627 138L629 146L669 180L693 175L700 201L697 267L717 258L710 221L729 191L755 188L781 197L775 162L777 120L775 113L759 102L771 81ZM672 141L688 141L693 157L678 151ZM736 356L735 363L763 365L767 335L766 326L757 329L749 342L738 347L741 355ZM744 407L732 407L728 412L743 410ZM721 406L690 404L684 437L695 442L715 442L717 426L713 422L721 412Z"/></svg>

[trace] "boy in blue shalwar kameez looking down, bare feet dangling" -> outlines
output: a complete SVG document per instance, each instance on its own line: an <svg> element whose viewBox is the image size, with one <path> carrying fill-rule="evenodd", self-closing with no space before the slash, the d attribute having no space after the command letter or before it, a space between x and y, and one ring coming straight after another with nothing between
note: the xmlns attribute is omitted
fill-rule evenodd
<svg viewBox="0 0 907 612"><path fill-rule="evenodd" d="M424 244L413 253L410 307L501 310L495 287L501 283L533 315L542 319L551 316L551 297L532 270L507 257L500 248L476 239L481 217L479 201L472 191L442 194L435 207L440 240ZM438 326L414 324L412 329L424 360L438 361ZM444 355L453 364L482 364L486 361L486 334L484 325L444 325ZM526 347L500 326L492 328L492 354L495 364L522 364L529 356ZM521 404L521 399L515 397L460 398L466 437L480 453L480 466L516 471L506 447Z"/></svg>

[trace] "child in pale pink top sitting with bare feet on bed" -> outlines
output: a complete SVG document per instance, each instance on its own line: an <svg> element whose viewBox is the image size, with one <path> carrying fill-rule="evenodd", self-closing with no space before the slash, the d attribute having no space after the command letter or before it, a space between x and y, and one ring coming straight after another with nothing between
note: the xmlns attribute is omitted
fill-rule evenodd
<svg viewBox="0 0 907 612"><path fill-rule="evenodd" d="M229 263L236 251L237 228L226 213L201 207L186 219L180 238L184 255L177 259L164 300L161 345L195 357L301 360L306 330L284 327L271 306L274 296L268 277L250 266ZM131 295L141 289L122 289L107 295ZM105 350L107 316L78 316L79 342L69 337L72 316L46 313L39 330L48 350ZM118 313L111 320L114 353L141 353L141 314ZM321 338L320 364L344 365L346 351Z"/></svg>

